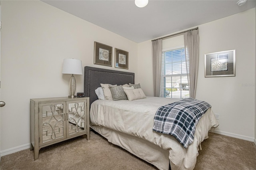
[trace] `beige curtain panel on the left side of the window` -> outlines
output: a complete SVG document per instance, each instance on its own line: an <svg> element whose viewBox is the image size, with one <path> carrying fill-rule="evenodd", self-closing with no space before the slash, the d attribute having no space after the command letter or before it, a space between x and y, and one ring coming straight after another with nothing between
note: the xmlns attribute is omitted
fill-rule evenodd
<svg viewBox="0 0 256 170"><path fill-rule="evenodd" d="M152 41L154 96L160 96L162 39Z"/></svg>

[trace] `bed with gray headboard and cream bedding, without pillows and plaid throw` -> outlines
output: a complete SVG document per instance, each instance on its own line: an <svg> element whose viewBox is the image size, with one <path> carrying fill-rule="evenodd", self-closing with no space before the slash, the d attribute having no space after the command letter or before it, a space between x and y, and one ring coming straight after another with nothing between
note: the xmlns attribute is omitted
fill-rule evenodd
<svg viewBox="0 0 256 170"><path fill-rule="evenodd" d="M200 143L218 126L211 108L202 116L193 142L184 148L172 135L152 130L159 107L180 99L146 97L138 100L100 100L95 90L103 84L134 84L134 73L85 67L84 93L90 97L90 127L160 170L193 169ZM143 87L141 87L143 89Z"/></svg>

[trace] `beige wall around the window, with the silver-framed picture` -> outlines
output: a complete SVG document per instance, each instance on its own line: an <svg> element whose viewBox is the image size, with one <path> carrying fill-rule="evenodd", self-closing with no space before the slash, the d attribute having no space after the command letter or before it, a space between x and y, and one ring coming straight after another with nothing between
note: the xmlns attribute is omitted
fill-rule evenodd
<svg viewBox="0 0 256 170"><path fill-rule="evenodd" d="M196 99L208 101L220 126L216 132L255 138L255 8L199 27L200 59ZM138 76L146 95L153 96L151 41L138 44ZM204 77L204 54L236 49L236 77ZM148 60L148 61L147 61ZM150 60L150 61L149 61ZM143 61L147 63L143 64Z"/></svg>

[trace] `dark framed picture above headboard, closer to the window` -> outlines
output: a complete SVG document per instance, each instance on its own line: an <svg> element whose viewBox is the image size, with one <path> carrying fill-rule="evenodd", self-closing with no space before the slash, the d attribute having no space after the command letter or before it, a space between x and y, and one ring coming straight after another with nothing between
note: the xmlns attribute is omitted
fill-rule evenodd
<svg viewBox="0 0 256 170"><path fill-rule="evenodd" d="M116 59L115 67L128 69L128 57L129 57L129 53L127 51L115 48L115 59Z"/></svg>

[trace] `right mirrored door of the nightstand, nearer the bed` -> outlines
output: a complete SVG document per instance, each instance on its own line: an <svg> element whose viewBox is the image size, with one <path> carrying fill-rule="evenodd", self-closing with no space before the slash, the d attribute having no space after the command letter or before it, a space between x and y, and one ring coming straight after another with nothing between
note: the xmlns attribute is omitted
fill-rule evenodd
<svg viewBox="0 0 256 170"><path fill-rule="evenodd" d="M67 137L75 136L80 133L86 132L87 117L86 117L87 105L84 100L67 101L66 112L68 117L67 123Z"/></svg>

